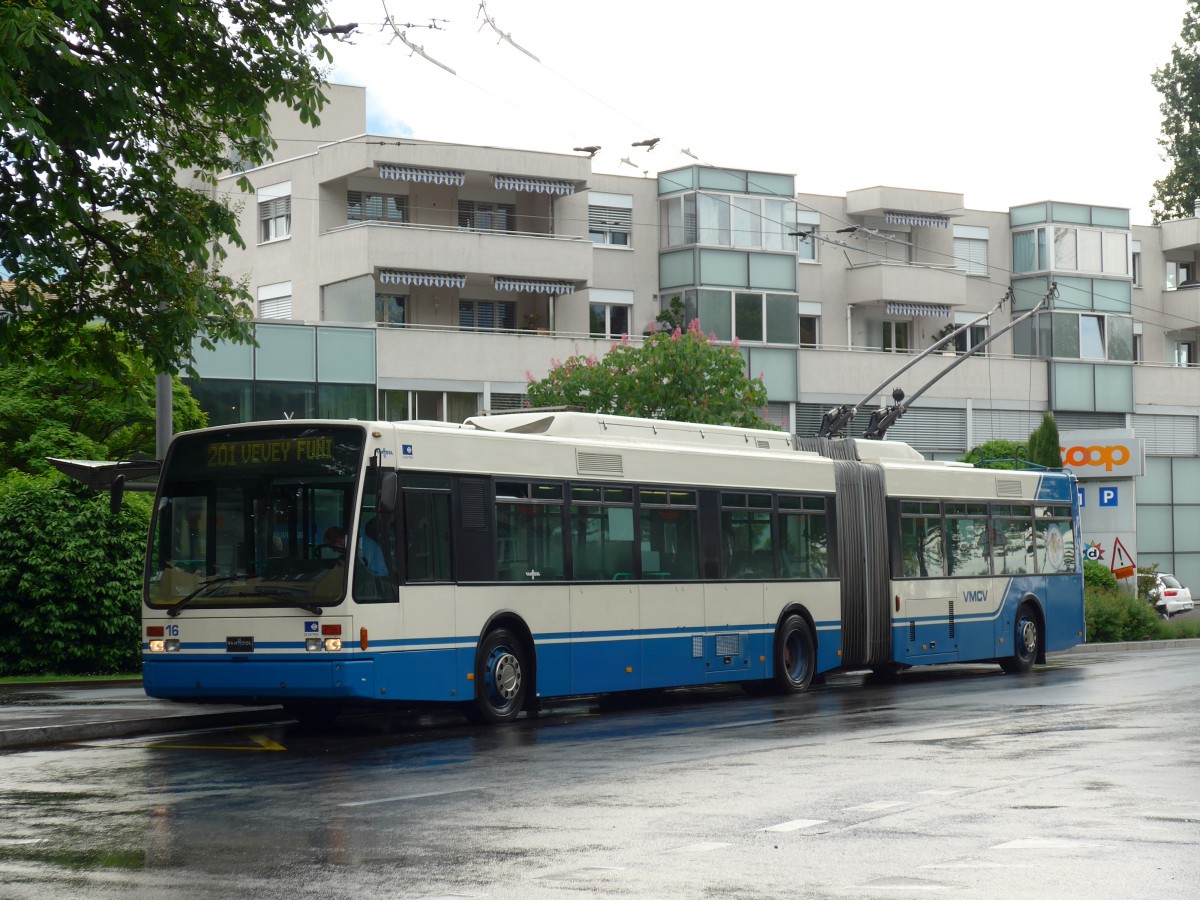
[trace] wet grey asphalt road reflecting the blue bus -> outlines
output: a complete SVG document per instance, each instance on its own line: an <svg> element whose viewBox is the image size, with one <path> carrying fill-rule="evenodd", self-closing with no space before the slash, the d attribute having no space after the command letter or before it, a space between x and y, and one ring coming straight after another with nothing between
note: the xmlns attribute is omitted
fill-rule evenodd
<svg viewBox="0 0 1200 900"><path fill-rule="evenodd" d="M2 898L1200 896L1200 648L0 755Z"/></svg>

